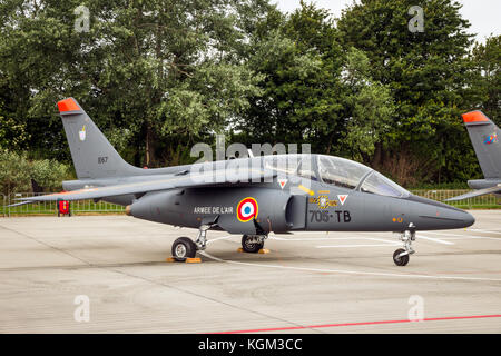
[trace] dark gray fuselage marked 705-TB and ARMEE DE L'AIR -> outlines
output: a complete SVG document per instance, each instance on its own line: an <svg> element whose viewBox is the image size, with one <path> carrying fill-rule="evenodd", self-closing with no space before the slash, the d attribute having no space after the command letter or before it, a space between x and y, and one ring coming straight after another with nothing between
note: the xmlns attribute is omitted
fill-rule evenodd
<svg viewBox="0 0 501 356"><path fill-rule="evenodd" d="M285 168L277 164L281 159L286 162ZM411 222L418 230L434 230L474 222L469 212L414 196L366 166L323 155L262 156L145 169L130 177L65 181L63 188L169 179L189 175L203 166L273 169L276 176L257 182L237 181L215 187L207 184L104 200L130 206L129 214L137 218L175 226L198 228L217 220L217 227L230 234L404 231ZM247 208L256 210L252 219L247 219Z"/></svg>

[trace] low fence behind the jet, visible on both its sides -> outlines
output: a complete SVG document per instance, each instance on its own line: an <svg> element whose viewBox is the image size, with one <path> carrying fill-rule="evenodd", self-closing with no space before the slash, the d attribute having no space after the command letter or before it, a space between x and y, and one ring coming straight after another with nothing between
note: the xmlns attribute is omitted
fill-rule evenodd
<svg viewBox="0 0 501 356"><path fill-rule="evenodd" d="M424 198L443 201L451 206L462 208L462 209L501 209L501 198L494 195L485 195L474 198L469 198L460 201L444 201L445 199L463 195L469 192L469 189L460 189L460 190L412 190L412 194L416 196L421 196ZM45 192L46 194L46 192ZM19 202L16 199L33 197L37 195L43 194L33 194L33 192L16 192L9 196L4 196L0 194L0 216L12 216L12 215L57 215L56 201L40 201L37 204L27 204L17 207L7 207L8 205ZM94 202L94 200L80 200L80 201L71 201L71 212L73 214L120 214L125 211L125 207L116 204L98 201Z"/></svg>

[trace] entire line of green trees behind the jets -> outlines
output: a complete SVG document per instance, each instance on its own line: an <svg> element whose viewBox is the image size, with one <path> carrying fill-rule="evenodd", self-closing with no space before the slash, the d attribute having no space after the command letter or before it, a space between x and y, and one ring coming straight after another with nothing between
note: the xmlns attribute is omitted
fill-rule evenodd
<svg viewBox="0 0 501 356"><path fill-rule="evenodd" d="M501 123L500 36L475 42L459 3L418 2L420 31L415 0L340 18L304 1L4 0L0 150L69 165L55 103L72 96L137 166L190 162L224 134L307 142L406 187L481 177L460 115Z"/></svg>

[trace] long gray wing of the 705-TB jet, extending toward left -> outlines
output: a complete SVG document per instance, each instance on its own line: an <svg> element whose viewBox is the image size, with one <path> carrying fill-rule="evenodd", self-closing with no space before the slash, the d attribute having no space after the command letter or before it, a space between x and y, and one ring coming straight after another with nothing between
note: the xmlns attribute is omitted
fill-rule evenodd
<svg viewBox="0 0 501 356"><path fill-rule="evenodd" d="M197 174L187 172L185 175L173 175L171 177L157 180L85 188L67 192L56 192L46 196L19 198L17 200L21 200L21 204L27 204L36 201L98 199L105 197L121 196L128 194L144 194L148 191L158 191L175 188L215 187L237 182L255 182L262 181L262 179L265 178L273 178L275 176L276 172L274 172L273 170L248 168L222 169Z"/></svg>

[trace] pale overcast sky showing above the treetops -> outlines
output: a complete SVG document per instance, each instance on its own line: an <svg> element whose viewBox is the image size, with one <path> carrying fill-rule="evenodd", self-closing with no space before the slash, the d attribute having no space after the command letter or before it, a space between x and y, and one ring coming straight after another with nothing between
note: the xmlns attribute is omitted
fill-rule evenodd
<svg viewBox="0 0 501 356"><path fill-rule="evenodd" d="M461 13L471 23L470 33L477 34L477 40L484 42L491 33L501 34L501 0L456 0L463 4ZM292 12L299 7L299 0L272 0L278 4L278 9ZM307 2L311 2L307 0ZM353 0L314 0L318 7L331 10L334 17L341 16L341 10ZM416 4L420 1L416 0ZM426 21L426 18L424 18Z"/></svg>

